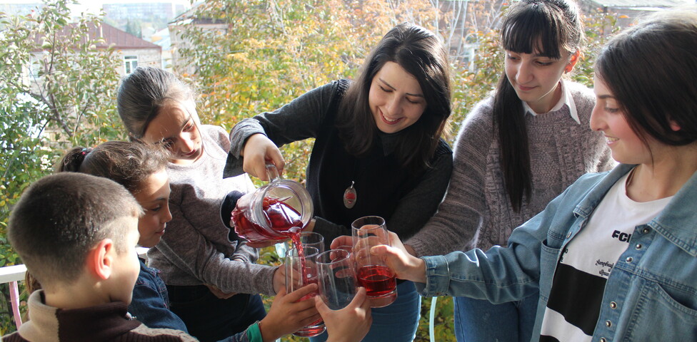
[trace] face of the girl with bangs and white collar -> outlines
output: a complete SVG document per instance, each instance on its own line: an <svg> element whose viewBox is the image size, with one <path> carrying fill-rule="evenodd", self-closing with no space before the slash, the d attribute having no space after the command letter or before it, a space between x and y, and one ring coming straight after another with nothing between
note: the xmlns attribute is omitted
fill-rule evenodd
<svg viewBox="0 0 697 342"><path fill-rule="evenodd" d="M547 113L561 98L559 80L564 71L571 71L577 57L569 61L566 51L561 58L553 59L535 51L516 53L506 51L506 77L516 90L518 98L525 101L536 113Z"/></svg>

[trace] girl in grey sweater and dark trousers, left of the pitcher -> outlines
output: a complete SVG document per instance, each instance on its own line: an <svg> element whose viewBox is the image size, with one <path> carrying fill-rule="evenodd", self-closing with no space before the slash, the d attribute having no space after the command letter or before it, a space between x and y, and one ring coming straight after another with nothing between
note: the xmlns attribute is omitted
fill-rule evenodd
<svg viewBox="0 0 697 342"><path fill-rule="evenodd" d="M201 125L194 92L159 68L125 76L117 106L131 138L170 152L172 220L148 257L161 270L171 310L201 341L244 331L266 314L259 293L285 289L285 276L282 267L256 264L256 249L234 234L229 219L221 220L227 195L254 191L247 175L223 179L226 132Z"/></svg>

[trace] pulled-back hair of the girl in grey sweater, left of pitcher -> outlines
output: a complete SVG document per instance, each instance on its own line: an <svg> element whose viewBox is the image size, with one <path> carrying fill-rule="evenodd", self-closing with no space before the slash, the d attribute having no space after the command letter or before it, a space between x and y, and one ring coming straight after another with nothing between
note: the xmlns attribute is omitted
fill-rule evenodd
<svg viewBox="0 0 697 342"><path fill-rule="evenodd" d="M131 137L140 139L168 100L194 100L194 90L174 73L139 66L121 79L116 108Z"/></svg>

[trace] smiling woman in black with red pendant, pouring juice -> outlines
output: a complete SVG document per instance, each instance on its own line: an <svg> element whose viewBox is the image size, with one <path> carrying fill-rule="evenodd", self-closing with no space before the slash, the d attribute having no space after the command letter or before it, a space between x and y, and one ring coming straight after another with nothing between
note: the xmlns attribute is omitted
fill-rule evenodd
<svg viewBox="0 0 697 342"><path fill-rule="evenodd" d="M307 229L329 243L351 234L358 217L379 215L411 237L436 212L450 179L452 152L442 139L450 114L443 44L425 28L401 24L373 49L356 81L334 81L238 123L226 175L266 179L267 160L284 167L277 146L316 138L306 183L316 217ZM373 309L364 341L413 340L420 298L411 282L397 287L393 304Z"/></svg>

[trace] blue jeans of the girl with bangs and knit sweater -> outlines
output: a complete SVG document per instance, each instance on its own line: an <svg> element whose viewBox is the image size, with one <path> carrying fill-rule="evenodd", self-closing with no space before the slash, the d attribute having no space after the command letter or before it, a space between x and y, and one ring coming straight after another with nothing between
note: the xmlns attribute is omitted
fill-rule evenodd
<svg viewBox="0 0 697 342"><path fill-rule="evenodd" d="M481 299L453 297L457 341L530 341L539 299L539 295L533 295L522 301L491 304Z"/></svg>

